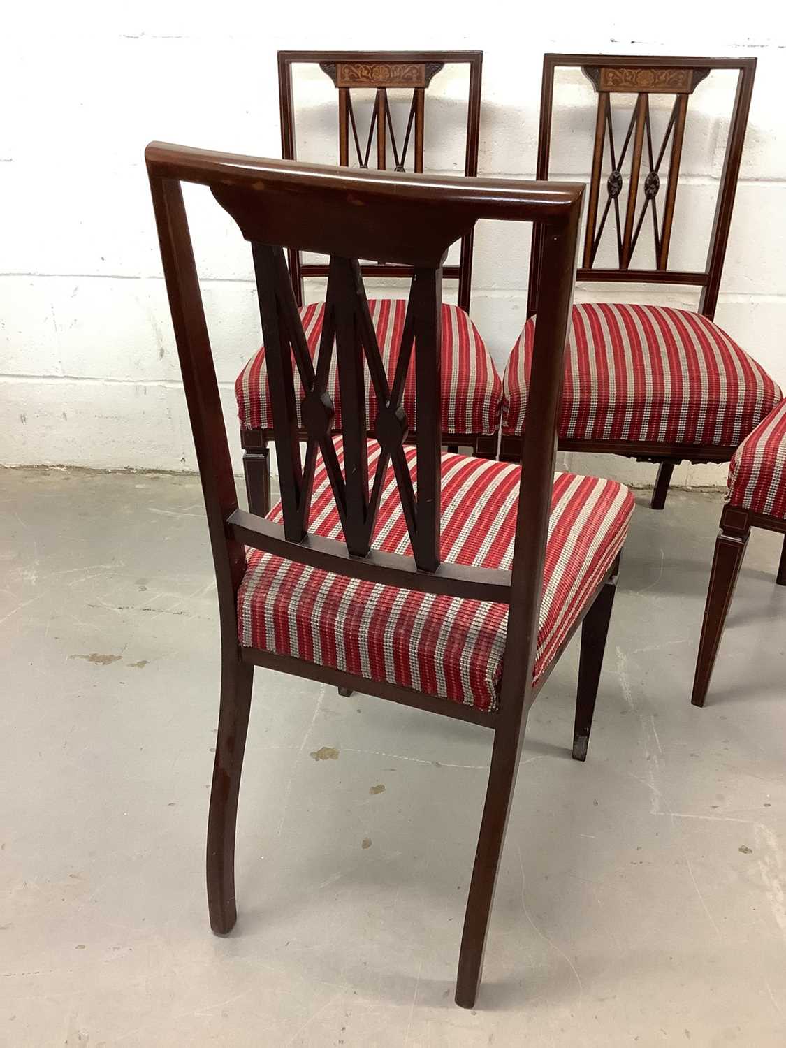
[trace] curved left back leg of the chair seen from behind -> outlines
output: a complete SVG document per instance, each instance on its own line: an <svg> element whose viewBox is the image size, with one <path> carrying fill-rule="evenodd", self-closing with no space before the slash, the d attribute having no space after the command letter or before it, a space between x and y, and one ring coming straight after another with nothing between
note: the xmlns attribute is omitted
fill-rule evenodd
<svg viewBox="0 0 786 1048"><path fill-rule="evenodd" d="M226 935L237 920L235 827L253 680L253 665L224 657L208 816L208 909L211 927L216 935Z"/></svg>

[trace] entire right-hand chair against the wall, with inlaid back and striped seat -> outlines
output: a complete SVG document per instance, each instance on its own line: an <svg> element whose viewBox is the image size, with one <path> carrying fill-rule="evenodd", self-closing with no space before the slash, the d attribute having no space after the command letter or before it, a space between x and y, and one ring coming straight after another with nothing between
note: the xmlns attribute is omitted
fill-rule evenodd
<svg viewBox="0 0 786 1048"><path fill-rule="evenodd" d="M637 302L573 306L560 446L659 463L652 506L662 509L674 466L726 462L781 391L714 323L740 172L756 59L546 54L538 178L549 177L565 113L554 112L558 69L581 69L597 95L584 244L577 279L700 289L698 311ZM715 70L737 73L706 263L671 264L689 106ZM651 101L663 97L662 130ZM659 115L659 114L658 114ZM577 137L575 131L570 141ZM587 136L589 153L590 136ZM682 190L684 193L684 190ZM682 220L686 213L681 213ZM519 454L530 402L529 366L543 283L542 234L532 235L527 321L505 369L503 457ZM681 245L684 247L684 243ZM684 255L684 252L682 253Z"/></svg>

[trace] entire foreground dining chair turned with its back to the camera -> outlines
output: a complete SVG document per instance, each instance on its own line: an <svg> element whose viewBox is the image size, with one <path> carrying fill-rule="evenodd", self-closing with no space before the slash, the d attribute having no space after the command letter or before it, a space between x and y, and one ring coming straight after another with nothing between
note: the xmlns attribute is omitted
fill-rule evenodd
<svg viewBox="0 0 786 1048"><path fill-rule="evenodd" d="M527 713L584 621L573 739L573 756L584 760L632 510L615 482L554 479L583 188L348 172L160 144L146 157L221 623L211 924L224 934L237 917L235 826L255 665L458 717L490 728L494 740L456 991L471 1007ZM281 502L266 517L238 508L181 182L209 187L252 245L281 480ZM543 228L521 465L440 447L442 267L478 219ZM330 257L315 358L284 246ZM358 259L412 269L391 370ZM411 362L414 417L403 399ZM410 428L416 438L407 444Z"/></svg>

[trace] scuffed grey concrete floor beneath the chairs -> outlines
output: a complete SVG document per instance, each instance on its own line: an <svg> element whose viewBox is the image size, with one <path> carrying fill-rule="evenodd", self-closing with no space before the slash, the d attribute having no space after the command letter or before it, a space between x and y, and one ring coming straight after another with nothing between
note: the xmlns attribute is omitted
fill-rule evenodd
<svg viewBox="0 0 786 1048"><path fill-rule="evenodd" d="M0 1044L786 1044L776 536L751 539L690 704L720 494L639 499L586 764L575 642L536 704L472 1012L453 989L486 733L260 672L240 918L215 938L198 483L4 471L0 499Z"/></svg>

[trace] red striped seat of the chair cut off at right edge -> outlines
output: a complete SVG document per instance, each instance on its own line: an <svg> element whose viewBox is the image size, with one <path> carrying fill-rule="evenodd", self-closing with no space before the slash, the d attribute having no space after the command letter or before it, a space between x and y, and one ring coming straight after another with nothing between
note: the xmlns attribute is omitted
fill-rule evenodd
<svg viewBox="0 0 786 1048"><path fill-rule="evenodd" d="M735 452L726 501L786 520L786 400Z"/></svg>

